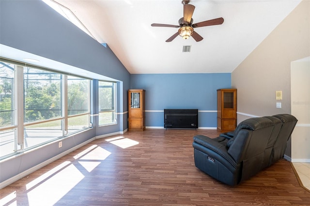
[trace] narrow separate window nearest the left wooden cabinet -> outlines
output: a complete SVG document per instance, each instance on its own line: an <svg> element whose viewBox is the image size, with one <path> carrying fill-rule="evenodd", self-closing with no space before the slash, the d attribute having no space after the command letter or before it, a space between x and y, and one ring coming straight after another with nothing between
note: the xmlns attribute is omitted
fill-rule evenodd
<svg viewBox="0 0 310 206"><path fill-rule="evenodd" d="M116 83L99 81L98 84L99 125L116 124Z"/></svg>

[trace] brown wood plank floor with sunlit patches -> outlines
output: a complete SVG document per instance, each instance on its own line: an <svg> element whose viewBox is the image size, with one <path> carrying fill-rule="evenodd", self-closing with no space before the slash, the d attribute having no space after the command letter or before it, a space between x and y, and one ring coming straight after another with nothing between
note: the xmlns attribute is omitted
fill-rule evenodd
<svg viewBox="0 0 310 206"><path fill-rule="evenodd" d="M195 134L147 129L92 143L0 191L0 205L310 206L290 162L280 160L236 187L195 167Z"/></svg>

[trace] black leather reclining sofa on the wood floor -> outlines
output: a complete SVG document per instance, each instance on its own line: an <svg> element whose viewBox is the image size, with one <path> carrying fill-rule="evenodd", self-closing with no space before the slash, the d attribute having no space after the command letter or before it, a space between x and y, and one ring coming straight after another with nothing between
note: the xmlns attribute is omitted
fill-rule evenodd
<svg viewBox="0 0 310 206"><path fill-rule="evenodd" d="M229 138L194 136L197 168L215 179L237 185L284 155L297 119L289 114L242 121Z"/></svg>

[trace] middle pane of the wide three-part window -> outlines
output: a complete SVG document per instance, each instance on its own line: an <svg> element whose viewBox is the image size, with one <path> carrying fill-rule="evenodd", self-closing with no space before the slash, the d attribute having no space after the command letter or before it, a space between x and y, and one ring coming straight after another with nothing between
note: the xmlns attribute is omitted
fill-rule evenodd
<svg viewBox="0 0 310 206"><path fill-rule="evenodd" d="M62 76L24 67L24 148L62 136Z"/></svg>

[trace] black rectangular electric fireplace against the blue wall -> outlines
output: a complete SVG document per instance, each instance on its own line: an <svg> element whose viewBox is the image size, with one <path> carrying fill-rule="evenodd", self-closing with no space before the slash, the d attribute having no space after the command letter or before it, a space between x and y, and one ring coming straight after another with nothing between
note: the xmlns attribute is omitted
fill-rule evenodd
<svg viewBox="0 0 310 206"><path fill-rule="evenodd" d="M198 109L164 109L164 128L197 129Z"/></svg>

